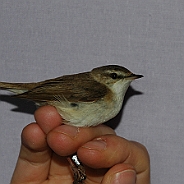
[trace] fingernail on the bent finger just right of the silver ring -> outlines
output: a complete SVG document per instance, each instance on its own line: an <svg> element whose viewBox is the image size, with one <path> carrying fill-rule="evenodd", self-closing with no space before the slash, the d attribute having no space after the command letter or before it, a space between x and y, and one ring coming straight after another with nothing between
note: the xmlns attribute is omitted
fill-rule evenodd
<svg viewBox="0 0 184 184"><path fill-rule="evenodd" d="M105 150L107 147L107 143L105 142L105 140L101 139L101 138L97 138L93 141L87 142L84 146L82 146L83 148L87 148L90 150L98 150L98 151L102 151Z"/></svg>

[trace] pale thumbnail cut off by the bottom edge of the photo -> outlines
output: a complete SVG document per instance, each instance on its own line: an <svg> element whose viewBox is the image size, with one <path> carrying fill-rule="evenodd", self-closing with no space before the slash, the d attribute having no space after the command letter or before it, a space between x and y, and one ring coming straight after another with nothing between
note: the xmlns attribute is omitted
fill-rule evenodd
<svg viewBox="0 0 184 184"><path fill-rule="evenodd" d="M134 170L126 170L117 173L111 184L136 184L136 173Z"/></svg>

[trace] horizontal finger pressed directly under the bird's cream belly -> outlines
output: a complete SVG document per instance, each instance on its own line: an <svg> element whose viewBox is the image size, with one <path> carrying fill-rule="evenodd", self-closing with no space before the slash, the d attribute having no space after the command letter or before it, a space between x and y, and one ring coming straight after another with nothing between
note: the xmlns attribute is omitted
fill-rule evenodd
<svg viewBox="0 0 184 184"><path fill-rule="evenodd" d="M47 142L54 152L68 156L75 153L84 143L106 134L115 134L115 132L105 125L84 128L62 125L49 132Z"/></svg>

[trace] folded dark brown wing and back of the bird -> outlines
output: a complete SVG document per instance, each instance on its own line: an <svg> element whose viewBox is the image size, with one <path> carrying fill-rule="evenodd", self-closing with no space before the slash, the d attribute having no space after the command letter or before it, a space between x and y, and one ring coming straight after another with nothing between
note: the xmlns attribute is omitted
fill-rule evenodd
<svg viewBox="0 0 184 184"><path fill-rule="evenodd" d="M40 82L35 88L15 97L35 102L56 101L57 98L69 102L92 102L103 98L107 91L105 85L95 81L86 72Z"/></svg>

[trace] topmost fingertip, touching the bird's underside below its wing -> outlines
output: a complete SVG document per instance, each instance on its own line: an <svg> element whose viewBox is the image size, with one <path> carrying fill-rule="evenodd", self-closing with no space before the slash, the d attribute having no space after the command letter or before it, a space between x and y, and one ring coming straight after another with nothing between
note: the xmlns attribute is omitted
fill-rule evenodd
<svg viewBox="0 0 184 184"><path fill-rule="evenodd" d="M62 124L62 118L53 106L43 106L34 113L35 120L46 134Z"/></svg>

